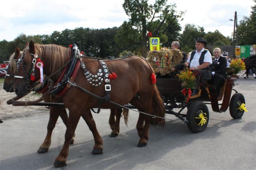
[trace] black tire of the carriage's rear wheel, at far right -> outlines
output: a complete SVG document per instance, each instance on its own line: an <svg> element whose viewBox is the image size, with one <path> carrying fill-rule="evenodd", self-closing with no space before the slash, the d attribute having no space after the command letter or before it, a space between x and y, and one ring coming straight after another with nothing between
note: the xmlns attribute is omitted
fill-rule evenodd
<svg viewBox="0 0 256 170"><path fill-rule="evenodd" d="M240 109L237 109L240 107L238 103L240 105L242 103L245 104L244 96L241 93L235 93L231 97L231 100L229 102L229 113L230 113L231 117L234 119L240 119L244 114L244 110L240 111Z"/></svg>

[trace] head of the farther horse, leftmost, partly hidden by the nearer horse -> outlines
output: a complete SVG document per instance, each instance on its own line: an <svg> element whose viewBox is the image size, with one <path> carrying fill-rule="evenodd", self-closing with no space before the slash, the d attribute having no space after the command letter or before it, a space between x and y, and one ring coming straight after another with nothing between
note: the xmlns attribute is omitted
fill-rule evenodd
<svg viewBox="0 0 256 170"><path fill-rule="evenodd" d="M7 73L5 75L4 83L3 83L3 89L6 92L14 92L13 91L13 81L14 81L14 75L17 71L17 62L22 55L23 51L20 51L18 47L15 48L15 52L11 54L9 61L9 67L7 69Z"/></svg>

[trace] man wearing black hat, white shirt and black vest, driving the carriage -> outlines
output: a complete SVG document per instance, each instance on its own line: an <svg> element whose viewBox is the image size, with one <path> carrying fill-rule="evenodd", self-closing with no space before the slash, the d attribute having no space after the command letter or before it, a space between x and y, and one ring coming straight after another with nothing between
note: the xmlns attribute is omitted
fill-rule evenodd
<svg viewBox="0 0 256 170"><path fill-rule="evenodd" d="M208 50L205 50L204 47L207 45L207 41L203 38L199 37L196 40L196 50L192 51L189 55L187 62L185 63L186 67L189 67L196 74L196 89L192 92L191 95L198 94L198 85L200 78L203 75L210 74L211 76L211 68L210 64L212 64L212 55Z"/></svg>

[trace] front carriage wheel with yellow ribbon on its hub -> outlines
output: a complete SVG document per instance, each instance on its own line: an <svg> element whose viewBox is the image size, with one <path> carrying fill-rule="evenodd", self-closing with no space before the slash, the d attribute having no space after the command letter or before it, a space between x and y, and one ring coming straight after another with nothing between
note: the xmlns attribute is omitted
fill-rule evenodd
<svg viewBox="0 0 256 170"><path fill-rule="evenodd" d="M187 126L194 133L203 132L208 125L208 107L202 101L195 101L190 104L187 111Z"/></svg>

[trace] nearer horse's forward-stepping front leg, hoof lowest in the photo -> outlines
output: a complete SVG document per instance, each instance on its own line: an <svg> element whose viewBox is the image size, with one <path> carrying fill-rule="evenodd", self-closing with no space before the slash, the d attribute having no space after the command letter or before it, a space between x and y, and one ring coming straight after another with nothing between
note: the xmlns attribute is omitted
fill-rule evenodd
<svg viewBox="0 0 256 170"><path fill-rule="evenodd" d="M58 168L67 165L66 160L69 153L69 144L74 135L77 123L79 122L80 115L81 114L77 113L77 111L69 111L68 125L65 133L65 142L60 151L60 154L55 158L54 167Z"/></svg>

